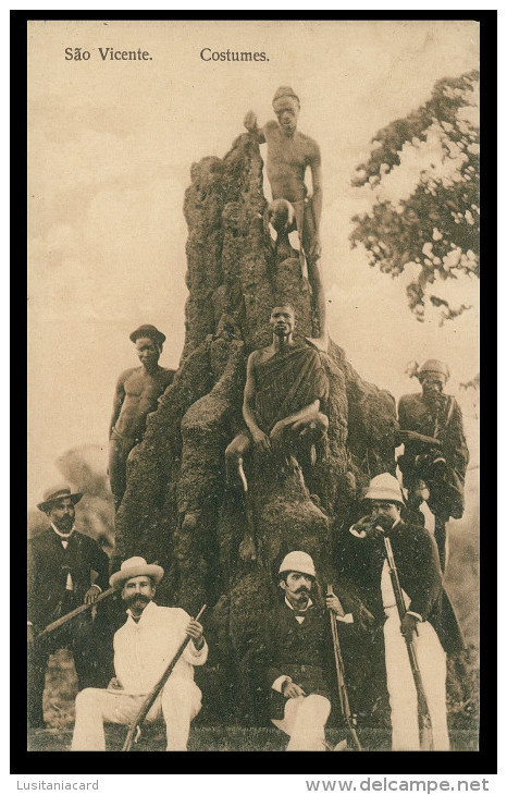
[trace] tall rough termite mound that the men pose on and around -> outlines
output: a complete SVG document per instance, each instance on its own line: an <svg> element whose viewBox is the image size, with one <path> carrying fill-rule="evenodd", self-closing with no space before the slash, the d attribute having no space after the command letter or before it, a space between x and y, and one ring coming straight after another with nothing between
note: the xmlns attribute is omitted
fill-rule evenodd
<svg viewBox="0 0 507 795"><path fill-rule="evenodd" d="M393 396L363 381L330 342L320 352L330 381L327 439L313 466L293 458L281 468L255 454L246 462L258 556L240 559L247 517L240 489L225 487L224 451L243 424L247 356L270 343L276 304L295 307L295 339L319 331L297 253L275 252L264 230L262 166L257 143L244 134L222 160L191 167L185 346L128 462L112 556L113 570L134 554L163 565L159 603L194 614L208 603L211 655L199 672L215 694L208 704L222 720L228 710L250 722L248 652L276 589L273 568L301 548L314 556L322 582L333 582L333 540L370 477L395 473L397 427Z"/></svg>

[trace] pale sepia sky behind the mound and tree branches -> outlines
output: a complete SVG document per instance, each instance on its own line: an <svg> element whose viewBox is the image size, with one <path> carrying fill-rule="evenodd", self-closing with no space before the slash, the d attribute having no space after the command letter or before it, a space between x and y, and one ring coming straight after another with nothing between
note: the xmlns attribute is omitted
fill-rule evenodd
<svg viewBox="0 0 507 795"><path fill-rule="evenodd" d="M65 60L65 48L90 52ZM98 48L150 52L102 61ZM205 62L203 47L265 51L258 63ZM176 368L187 296L184 192L193 162L223 157L253 109L290 85L299 129L322 151L322 242L330 331L369 381L396 397L417 389L410 359L443 358L449 391L479 371L473 308L444 327L418 323L408 279L392 280L351 250L350 187L375 132L424 102L434 83L478 66L472 22L33 22L28 28L28 504L61 480L54 461L103 448L119 374L137 364L129 332L168 335L161 364ZM470 404L470 405L469 405ZM469 420L467 420L469 421ZM477 424L469 421L477 449ZM471 436L470 436L471 435Z"/></svg>

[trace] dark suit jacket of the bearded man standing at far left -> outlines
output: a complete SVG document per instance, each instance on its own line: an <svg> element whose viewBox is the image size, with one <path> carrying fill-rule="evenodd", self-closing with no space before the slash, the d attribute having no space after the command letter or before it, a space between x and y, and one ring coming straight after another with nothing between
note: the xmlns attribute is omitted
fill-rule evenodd
<svg viewBox="0 0 507 795"><path fill-rule="evenodd" d="M28 621L37 629L60 617L69 571L76 606L91 585L91 571L102 590L109 586L108 555L92 538L74 530L65 550L50 528L28 541Z"/></svg>

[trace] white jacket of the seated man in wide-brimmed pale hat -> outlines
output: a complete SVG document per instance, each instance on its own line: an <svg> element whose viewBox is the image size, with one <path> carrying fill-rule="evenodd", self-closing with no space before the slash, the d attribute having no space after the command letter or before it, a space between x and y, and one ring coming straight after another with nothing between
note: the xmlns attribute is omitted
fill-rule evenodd
<svg viewBox="0 0 507 795"><path fill-rule="evenodd" d="M181 608L161 608L149 602L136 623L128 613L126 623L114 635L114 670L127 693L149 693L162 676L186 637L190 616ZM194 680L194 665L208 659L208 645L197 650L186 646L172 673Z"/></svg>

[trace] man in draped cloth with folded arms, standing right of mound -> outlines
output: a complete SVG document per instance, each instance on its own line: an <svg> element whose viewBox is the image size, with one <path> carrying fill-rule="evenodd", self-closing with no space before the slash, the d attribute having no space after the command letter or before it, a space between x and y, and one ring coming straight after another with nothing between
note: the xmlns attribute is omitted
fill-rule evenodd
<svg viewBox="0 0 507 795"><path fill-rule="evenodd" d="M461 518L465 510L465 474L469 462L461 409L453 395L444 393L449 370L444 362L428 359L409 371L422 387L420 394L399 399L399 442L405 453L398 458L410 505L419 511L426 500L435 516L435 541L445 571L446 524Z"/></svg>

